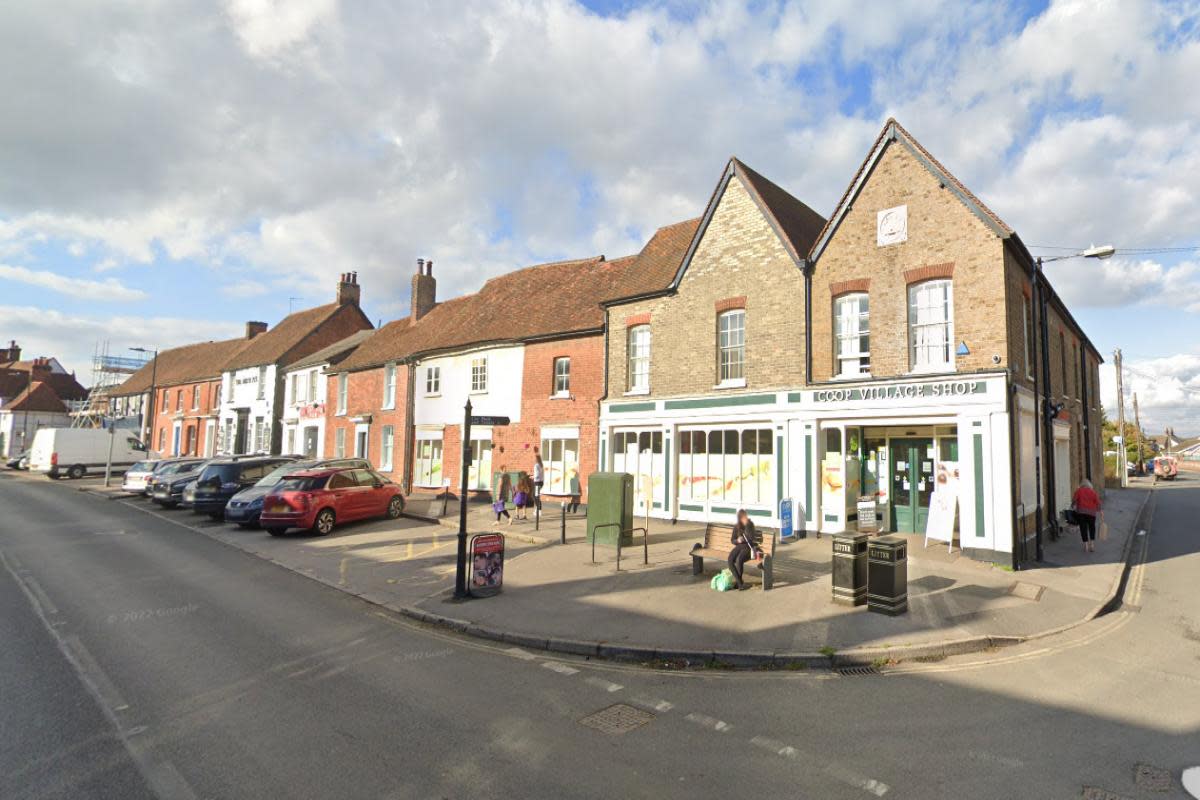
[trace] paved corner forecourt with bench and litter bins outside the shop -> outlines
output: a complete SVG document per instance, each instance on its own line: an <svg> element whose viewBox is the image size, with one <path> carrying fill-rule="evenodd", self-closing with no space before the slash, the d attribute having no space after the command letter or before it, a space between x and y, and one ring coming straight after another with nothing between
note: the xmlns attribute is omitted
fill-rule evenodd
<svg viewBox="0 0 1200 800"><path fill-rule="evenodd" d="M497 528L490 507L473 504L472 534L500 530L508 537L504 590L461 602L452 597L455 509L438 519L418 506L419 518L355 524L324 539L276 539L133 503L389 609L484 639L680 667L790 668L994 650L1086 622L1111 606L1147 498L1148 486L1136 481L1110 489L1110 534L1094 553L1066 534L1046 541L1043 563L1019 572L911 536L908 612L900 616L832 602L829 536L781 545L769 593L752 567L749 591L718 593L709 581L722 564L706 561L703 576L691 575L689 552L703 540L700 527L652 519L648 564L641 547L623 548L618 571L612 548L598 547L592 563L582 516L565 518L562 545L560 507L547 506L540 525L530 518Z"/></svg>

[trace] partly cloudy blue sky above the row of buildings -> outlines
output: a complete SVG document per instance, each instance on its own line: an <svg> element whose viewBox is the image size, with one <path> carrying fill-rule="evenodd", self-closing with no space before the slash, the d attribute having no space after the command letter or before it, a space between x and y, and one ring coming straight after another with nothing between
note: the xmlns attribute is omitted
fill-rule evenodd
<svg viewBox="0 0 1200 800"><path fill-rule="evenodd" d="M731 155L828 215L895 116L1036 254L1117 248L1046 266L1110 416L1120 347L1144 427L1200 434L1200 4L862 8L5 4L0 339L88 383L103 343L238 336L348 270L386 321L418 258L448 299L637 252Z"/></svg>

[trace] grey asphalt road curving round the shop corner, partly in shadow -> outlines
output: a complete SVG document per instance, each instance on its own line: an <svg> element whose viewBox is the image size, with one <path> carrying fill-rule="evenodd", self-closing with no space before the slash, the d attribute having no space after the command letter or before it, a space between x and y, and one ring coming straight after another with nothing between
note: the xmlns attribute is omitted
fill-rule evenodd
<svg viewBox="0 0 1200 800"><path fill-rule="evenodd" d="M1153 497L1121 612L840 676L490 646L122 501L0 475L0 798L1186 796L1200 489ZM581 722L614 704L641 724ZM1139 764L1172 784L1147 793Z"/></svg>

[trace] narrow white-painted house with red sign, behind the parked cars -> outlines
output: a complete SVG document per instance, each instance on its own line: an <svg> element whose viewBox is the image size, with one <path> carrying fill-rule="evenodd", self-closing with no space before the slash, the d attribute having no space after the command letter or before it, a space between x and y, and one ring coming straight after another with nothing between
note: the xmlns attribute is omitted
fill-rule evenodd
<svg viewBox="0 0 1200 800"><path fill-rule="evenodd" d="M283 443L281 451L325 458L325 409L329 373L374 331L359 331L288 365L283 369Z"/></svg>

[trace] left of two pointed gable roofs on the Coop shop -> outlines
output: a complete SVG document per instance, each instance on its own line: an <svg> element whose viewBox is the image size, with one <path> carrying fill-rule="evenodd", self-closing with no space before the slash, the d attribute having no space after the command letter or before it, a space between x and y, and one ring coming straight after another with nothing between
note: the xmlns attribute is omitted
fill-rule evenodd
<svg viewBox="0 0 1200 800"><path fill-rule="evenodd" d="M738 178L742 185L745 186L750 198L758 206L758 210L762 211L763 216L767 217L767 222L775 231L775 235L779 236L784 249L792 257L792 261L797 266L804 264L809 249L826 224L824 217L788 194L776 184L746 167L734 156L725 166L721 180L718 181L716 188L713 190L713 196L709 198L704 215L701 217L700 224L692 234L688 252L684 254L679 269L671 281L670 289L678 288L679 282L688 271L696 248L700 247L700 242L704 237L704 231L708 229L708 223L712 221L713 213L715 213L716 206L720 204L721 198L725 196L725 190L733 178Z"/></svg>

